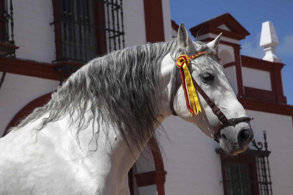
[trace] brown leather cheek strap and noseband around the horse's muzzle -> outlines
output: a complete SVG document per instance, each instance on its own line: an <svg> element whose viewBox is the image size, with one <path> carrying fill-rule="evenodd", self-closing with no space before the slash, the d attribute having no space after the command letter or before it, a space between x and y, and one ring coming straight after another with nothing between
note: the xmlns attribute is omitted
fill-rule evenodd
<svg viewBox="0 0 293 195"><path fill-rule="evenodd" d="M219 119L219 123L215 129L214 132L214 140L217 141L218 143L220 143L219 139L218 139L218 134L220 133L220 130L229 125L229 124L234 124L234 123L238 123L238 122L244 122L244 121L250 121L253 120L254 118L250 118L250 117L239 117L239 118L231 118L231 119L227 119L227 117L224 115L224 113L222 113L222 111L220 110L220 108L218 106L216 106L216 104L209 98L209 96L207 96L207 94L202 90L202 88L197 84L197 82L195 81L195 79L191 76L193 84L195 86L195 88L197 89L197 92L205 99L205 101L207 102L207 104L209 105L209 107L212 108L214 114L218 117Z"/></svg>

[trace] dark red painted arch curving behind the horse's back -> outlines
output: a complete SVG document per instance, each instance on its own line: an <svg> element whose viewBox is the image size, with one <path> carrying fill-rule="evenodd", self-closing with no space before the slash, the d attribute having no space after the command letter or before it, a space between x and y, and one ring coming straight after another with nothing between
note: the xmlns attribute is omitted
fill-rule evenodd
<svg viewBox="0 0 293 195"><path fill-rule="evenodd" d="M37 99L34 99L30 103L28 103L25 107L23 107L9 122L8 126L6 127L6 130L4 132L4 135L7 134L7 130L10 127L14 127L18 124L19 120L24 118L26 115L29 115L35 108L38 108L44 104L46 104L51 99L51 93L45 94L43 96L38 97ZM3 136L4 136L3 135Z"/></svg>

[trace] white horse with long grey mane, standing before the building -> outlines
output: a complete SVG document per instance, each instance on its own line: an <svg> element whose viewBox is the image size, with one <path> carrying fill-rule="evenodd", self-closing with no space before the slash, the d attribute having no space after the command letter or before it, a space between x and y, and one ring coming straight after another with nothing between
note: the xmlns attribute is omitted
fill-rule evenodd
<svg viewBox="0 0 293 195"><path fill-rule="evenodd" d="M220 37L193 42L181 24L178 38L169 42L114 51L84 65L49 103L0 139L0 194L130 194L127 173L171 115L171 100L180 118L213 138L217 116L200 94L202 112L191 116L176 85L181 51L206 51L191 61L191 75L227 117L246 116L221 65L209 55ZM237 155L253 132L249 122L238 122L218 136L222 149Z"/></svg>

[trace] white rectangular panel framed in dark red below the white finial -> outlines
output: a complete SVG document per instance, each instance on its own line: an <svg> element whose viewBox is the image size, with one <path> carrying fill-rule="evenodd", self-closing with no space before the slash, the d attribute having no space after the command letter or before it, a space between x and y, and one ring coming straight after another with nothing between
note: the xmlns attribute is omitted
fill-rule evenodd
<svg viewBox="0 0 293 195"><path fill-rule="evenodd" d="M270 72L241 67L243 86L272 91Z"/></svg>

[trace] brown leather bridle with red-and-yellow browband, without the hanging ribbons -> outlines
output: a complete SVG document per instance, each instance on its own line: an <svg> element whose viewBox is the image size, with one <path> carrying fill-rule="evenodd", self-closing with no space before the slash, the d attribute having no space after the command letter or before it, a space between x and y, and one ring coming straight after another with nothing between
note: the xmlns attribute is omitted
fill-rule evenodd
<svg viewBox="0 0 293 195"><path fill-rule="evenodd" d="M204 55L206 52L203 51L203 52L199 52L197 54L194 54L192 56L187 56L188 58L190 59L194 59L196 57L199 57L199 56L202 56ZM181 55L181 56L185 56L186 58L186 55ZM177 58L179 59L180 56ZM176 62L177 63L177 62ZM183 63L188 63L189 64L189 61L180 61L181 66L183 65ZM188 66L187 64L187 66ZM178 66L177 66L178 67ZM178 67L180 68L180 67ZM220 108L218 106L216 106L216 104L209 98L209 96L202 90L202 88L197 84L196 80L193 78L192 75L190 75L190 77L192 78L192 83L195 87L195 89L197 90L197 92L205 99L205 101L207 102L207 104L209 105L210 108L212 108L212 111L214 112L214 114L218 117L219 119L219 123L215 129L215 132L214 132L214 140L217 141L218 143L220 143L219 139L218 139L218 134L221 132L221 129L223 127L226 127L228 125L231 125L231 124L236 124L236 123L239 123L239 122L244 122L244 121L251 121L253 120L254 118L253 117L239 117L239 118L230 118L230 119L227 119L227 117L224 115L224 113L220 110ZM182 78L181 78L182 79ZM184 83L184 82L183 82ZM185 83L184 83L185 84ZM185 96L186 98L186 96ZM186 103L188 103L189 100L186 99ZM177 116L176 112L174 111L174 106L173 106L173 101L170 102L170 108L171 108L171 112L173 115Z"/></svg>

